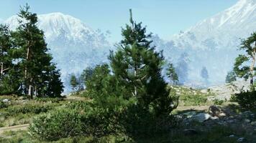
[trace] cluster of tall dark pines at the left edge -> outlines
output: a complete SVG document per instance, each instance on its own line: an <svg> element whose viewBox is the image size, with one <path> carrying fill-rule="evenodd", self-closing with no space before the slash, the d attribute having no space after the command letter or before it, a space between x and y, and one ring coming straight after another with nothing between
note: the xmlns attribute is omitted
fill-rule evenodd
<svg viewBox="0 0 256 143"><path fill-rule="evenodd" d="M44 32L37 27L37 14L24 6L18 16L15 31L0 25L0 94L60 96L60 70L52 63Z"/></svg>

